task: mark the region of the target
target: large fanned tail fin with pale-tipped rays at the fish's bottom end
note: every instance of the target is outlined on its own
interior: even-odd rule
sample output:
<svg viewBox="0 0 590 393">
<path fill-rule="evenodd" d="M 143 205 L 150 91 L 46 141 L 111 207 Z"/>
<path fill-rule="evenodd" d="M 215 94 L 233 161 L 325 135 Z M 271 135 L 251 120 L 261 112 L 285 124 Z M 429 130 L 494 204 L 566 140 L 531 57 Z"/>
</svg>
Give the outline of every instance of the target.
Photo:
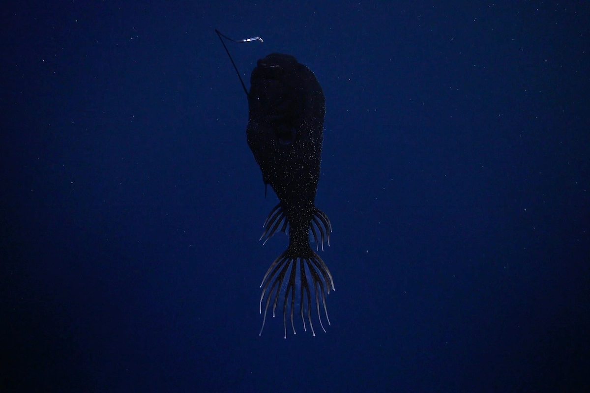
<svg viewBox="0 0 590 393">
<path fill-rule="evenodd" d="M 326 332 L 320 313 L 320 303 L 324 309 L 326 321 L 330 325 L 326 307 L 326 295 L 330 293 L 330 289 L 334 289 L 334 282 L 330 270 L 328 270 L 322 258 L 311 249 L 309 251 L 306 256 L 293 256 L 292 250 L 288 248 L 268 268 L 260 285 L 263 289 L 260 304 L 258 305 L 261 314 L 263 313 L 262 305 L 265 298 L 266 302 L 264 302 L 264 318 L 259 335 L 262 335 L 264 329 L 268 306 L 272 303 L 274 318 L 279 300 L 283 301 L 284 338 L 287 338 L 287 310 L 289 310 L 293 334 L 296 334 L 293 322 L 296 308 L 299 308 L 304 331 L 307 331 L 305 322 L 307 317 L 312 334 L 316 335 L 312 323 L 312 308 L 315 308 L 320 326 Z M 297 291 L 298 288 L 299 291 Z M 315 299 L 315 307 L 312 305 L 313 298 Z M 306 315 L 304 316 L 304 314 Z"/>
</svg>

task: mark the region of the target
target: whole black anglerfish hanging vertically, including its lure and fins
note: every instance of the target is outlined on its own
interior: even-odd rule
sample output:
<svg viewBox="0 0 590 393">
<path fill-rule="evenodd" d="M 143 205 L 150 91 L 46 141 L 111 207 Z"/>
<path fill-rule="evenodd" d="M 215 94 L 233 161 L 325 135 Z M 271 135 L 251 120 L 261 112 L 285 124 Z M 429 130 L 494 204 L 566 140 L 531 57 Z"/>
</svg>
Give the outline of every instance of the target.
<svg viewBox="0 0 590 393">
<path fill-rule="evenodd" d="M 227 38 L 216 32 L 219 39 Z M 262 41 L 257 37 L 237 42 L 254 40 Z M 224 43 L 222 39 L 221 42 Z M 307 317 L 315 335 L 312 309 L 325 332 L 320 304 L 330 323 L 326 295 L 334 289 L 334 282 L 310 245 L 310 232 L 316 249 L 321 246 L 322 250 L 324 243 L 329 245 L 332 232 L 330 220 L 314 204 L 326 113 L 322 87 L 309 68 L 291 55 L 278 53 L 258 60 L 251 74 L 250 92 L 241 82 L 248 97 L 248 146 L 260 166 L 265 187 L 270 184 L 279 200 L 264 222 L 260 239 L 266 243 L 277 231 L 289 234 L 287 250 L 274 260 L 261 284 L 259 311 L 263 313 L 264 306 L 264 317 L 260 334 L 268 308 L 272 307 L 274 316 L 279 302 L 283 303 L 285 338 L 287 312 L 293 333 L 296 333 L 293 315 L 297 311 L 304 330 L 307 330 Z"/>
</svg>

